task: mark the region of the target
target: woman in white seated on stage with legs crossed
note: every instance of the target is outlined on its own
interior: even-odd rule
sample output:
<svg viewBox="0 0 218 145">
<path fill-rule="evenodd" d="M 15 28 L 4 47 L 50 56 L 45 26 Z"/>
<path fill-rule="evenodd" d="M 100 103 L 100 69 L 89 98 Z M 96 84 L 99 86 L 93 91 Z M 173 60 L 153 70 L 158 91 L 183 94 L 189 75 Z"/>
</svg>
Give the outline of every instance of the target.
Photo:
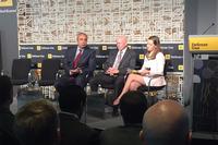
<svg viewBox="0 0 218 145">
<path fill-rule="evenodd" d="M 113 101 L 113 105 L 119 105 L 120 99 L 129 90 L 136 90 L 142 85 L 148 85 L 152 76 L 160 75 L 150 81 L 150 86 L 164 86 L 166 81 L 164 75 L 165 56 L 160 49 L 160 41 L 157 36 L 150 36 L 147 40 L 147 53 L 145 55 L 144 63 L 137 74 L 131 73 L 128 76 L 122 93 Z"/>
</svg>

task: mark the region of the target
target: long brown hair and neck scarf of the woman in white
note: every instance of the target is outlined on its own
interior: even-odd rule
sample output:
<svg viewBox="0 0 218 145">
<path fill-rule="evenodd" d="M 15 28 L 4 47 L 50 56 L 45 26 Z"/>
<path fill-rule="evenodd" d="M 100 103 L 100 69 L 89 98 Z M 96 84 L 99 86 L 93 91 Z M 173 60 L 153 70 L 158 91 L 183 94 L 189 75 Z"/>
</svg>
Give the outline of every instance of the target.
<svg viewBox="0 0 218 145">
<path fill-rule="evenodd" d="M 159 37 L 157 37 L 157 36 L 150 36 L 150 37 L 148 37 L 148 39 L 153 40 L 153 44 L 156 46 L 156 48 L 150 52 L 147 51 L 147 53 L 145 56 L 148 60 L 153 60 L 156 58 L 156 55 L 161 51 L 160 40 L 159 40 Z"/>
</svg>

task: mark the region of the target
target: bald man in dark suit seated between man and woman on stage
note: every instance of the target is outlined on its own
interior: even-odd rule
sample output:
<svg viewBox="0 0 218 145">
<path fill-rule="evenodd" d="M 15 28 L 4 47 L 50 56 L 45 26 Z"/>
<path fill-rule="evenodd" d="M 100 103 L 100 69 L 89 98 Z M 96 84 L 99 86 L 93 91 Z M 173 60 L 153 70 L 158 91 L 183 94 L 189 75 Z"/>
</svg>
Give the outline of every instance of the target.
<svg viewBox="0 0 218 145">
<path fill-rule="evenodd" d="M 120 95 L 124 86 L 124 76 L 126 75 L 128 69 L 134 69 L 136 61 L 135 52 L 128 48 L 128 39 L 125 36 L 117 38 L 117 48 L 118 50 L 109 53 L 104 65 L 105 72 L 89 81 L 93 92 L 98 89 L 98 84 L 101 86 L 111 84 L 114 87 L 113 99 Z M 118 108 L 113 107 L 113 114 L 117 114 L 117 112 Z"/>
</svg>

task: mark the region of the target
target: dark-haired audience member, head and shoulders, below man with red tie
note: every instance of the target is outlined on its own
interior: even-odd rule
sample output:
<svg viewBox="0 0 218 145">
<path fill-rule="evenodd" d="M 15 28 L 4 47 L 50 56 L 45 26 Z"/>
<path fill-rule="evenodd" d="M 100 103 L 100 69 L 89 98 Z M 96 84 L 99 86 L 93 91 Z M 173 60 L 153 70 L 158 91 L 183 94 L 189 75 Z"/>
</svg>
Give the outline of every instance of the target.
<svg viewBox="0 0 218 145">
<path fill-rule="evenodd" d="M 77 85 L 65 84 L 59 89 L 61 145 L 96 145 L 98 132 L 80 122 L 86 93 Z"/>
</svg>

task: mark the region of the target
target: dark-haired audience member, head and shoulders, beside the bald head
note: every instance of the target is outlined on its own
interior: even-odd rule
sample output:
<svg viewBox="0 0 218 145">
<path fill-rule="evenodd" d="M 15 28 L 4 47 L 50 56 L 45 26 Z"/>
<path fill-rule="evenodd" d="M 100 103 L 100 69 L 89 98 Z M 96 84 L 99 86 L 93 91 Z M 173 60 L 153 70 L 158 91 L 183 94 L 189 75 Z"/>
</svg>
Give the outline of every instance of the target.
<svg viewBox="0 0 218 145">
<path fill-rule="evenodd" d="M 101 132 L 100 145 L 142 145 L 138 133 L 147 109 L 147 100 L 143 93 L 131 90 L 120 101 L 123 126 L 107 129 Z"/>
</svg>

